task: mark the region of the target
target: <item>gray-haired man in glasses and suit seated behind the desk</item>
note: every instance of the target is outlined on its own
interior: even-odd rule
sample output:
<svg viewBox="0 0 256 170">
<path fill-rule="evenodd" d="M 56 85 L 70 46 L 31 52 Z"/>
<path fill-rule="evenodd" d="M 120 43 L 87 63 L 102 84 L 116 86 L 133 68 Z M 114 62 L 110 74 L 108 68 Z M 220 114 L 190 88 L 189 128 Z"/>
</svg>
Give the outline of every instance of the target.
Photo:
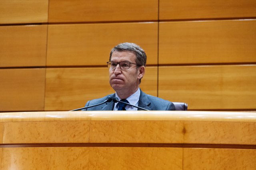
<svg viewBox="0 0 256 170">
<path fill-rule="evenodd" d="M 116 91 L 110 94 L 112 98 L 128 102 L 132 105 L 148 110 L 175 110 L 174 104 L 167 100 L 157 98 L 142 92 L 139 88 L 145 74 L 147 56 L 144 50 L 134 43 L 121 43 L 110 52 L 108 64 L 109 83 Z M 88 101 L 86 106 L 102 103 L 106 97 Z M 140 110 L 121 102 L 108 102 L 106 104 L 90 107 L 84 110 Z"/>
</svg>

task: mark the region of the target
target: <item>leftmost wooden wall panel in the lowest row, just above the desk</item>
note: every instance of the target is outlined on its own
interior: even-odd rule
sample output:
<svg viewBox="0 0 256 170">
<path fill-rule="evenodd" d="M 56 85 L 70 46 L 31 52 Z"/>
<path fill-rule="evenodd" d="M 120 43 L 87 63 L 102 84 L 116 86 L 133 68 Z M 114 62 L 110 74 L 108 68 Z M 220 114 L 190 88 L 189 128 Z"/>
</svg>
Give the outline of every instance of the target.
<svg viewBox="0 0 256 170">
<path fill-rule="evenodd" d="M 42 111 L 45 69 L 1 69 L 0 111 Z"/>
</svg>

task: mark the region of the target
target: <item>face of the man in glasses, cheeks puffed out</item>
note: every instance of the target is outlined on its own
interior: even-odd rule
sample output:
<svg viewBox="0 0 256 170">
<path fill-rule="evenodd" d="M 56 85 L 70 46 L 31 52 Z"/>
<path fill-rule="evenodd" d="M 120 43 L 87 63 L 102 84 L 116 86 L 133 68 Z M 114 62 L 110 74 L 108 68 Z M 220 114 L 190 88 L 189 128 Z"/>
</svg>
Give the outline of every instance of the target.
<svg viewBox="0 0 256 170">
<path fill-rule="evenodd" d="M 136 55 L 130 51 L 114 51 L 111 57 L 112 62 L 118 63 L 122 61 L 136 63 L 135 59 Z M 119 64 L 117 64 L 115 69 L 109 69 L 109 83 L 115 91 L 124 90 L 134 93 L 134 90 L 139 86 L 139 80 L 142 76 L 136 64 L 130 64 L 130 68 L 127 70 L 121 70 Z"/>
</svg>

